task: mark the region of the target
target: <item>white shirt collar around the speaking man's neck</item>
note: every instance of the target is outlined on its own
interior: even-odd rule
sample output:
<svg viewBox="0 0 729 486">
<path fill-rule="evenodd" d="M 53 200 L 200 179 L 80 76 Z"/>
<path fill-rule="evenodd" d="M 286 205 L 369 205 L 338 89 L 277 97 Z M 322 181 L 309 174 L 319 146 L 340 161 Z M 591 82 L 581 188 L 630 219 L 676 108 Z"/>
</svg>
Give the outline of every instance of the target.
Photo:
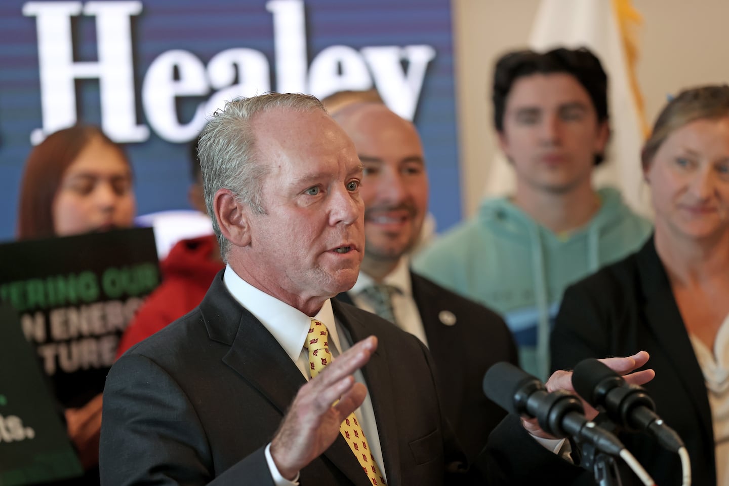
<svg viewBox="0 0 729 486">
<path fill-rule="evenodd" d="M 238 304 L 248 309 L 257 320 L 260 320 L 278 344 L 281 344 L 289 358 L 296 362 L 304 347 L 309 328 L 311 328 L 311 317 L 284 301 L 279 301 L 278 298 L 255 288 L 241 279 L 235 270 L 230 268 L 230 265 L 225 267 L 223 282 Z M 324 305 L 313 317 L 327 326 L 332 341 L 337 349 L 341 350 L 330 299 L 327 298 L 324 301 Z"/>
</svg>

